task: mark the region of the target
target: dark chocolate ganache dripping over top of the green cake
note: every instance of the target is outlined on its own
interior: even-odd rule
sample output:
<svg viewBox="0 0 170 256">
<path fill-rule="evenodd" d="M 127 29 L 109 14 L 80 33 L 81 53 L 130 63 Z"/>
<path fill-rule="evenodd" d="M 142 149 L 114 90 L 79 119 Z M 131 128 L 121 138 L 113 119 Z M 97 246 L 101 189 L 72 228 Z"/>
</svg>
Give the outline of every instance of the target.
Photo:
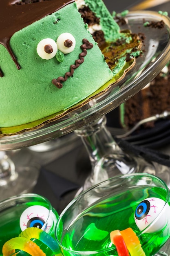
<svg viewBox="0 0 170 256">
<path fill-rule="evenodd" d="M 14 56 L 9 45 L 11 36 L 20 29 L 31 25 L 33 22 L 44 18 L 72 2 L 74 2 L 74 0 L 32 1 L 29 4 L 26 4 L 26 2 L 25 4 L 20 4 L 20 0 L 1 1 L 0 11 L 3 15 L 0 16 L 0 44 L 6 47 L 18 69 L 20 69 L 20 64 L 16 59 L 17 56 Z M 0 76 L 3 76 L 1 69 Z"/>
</svg>

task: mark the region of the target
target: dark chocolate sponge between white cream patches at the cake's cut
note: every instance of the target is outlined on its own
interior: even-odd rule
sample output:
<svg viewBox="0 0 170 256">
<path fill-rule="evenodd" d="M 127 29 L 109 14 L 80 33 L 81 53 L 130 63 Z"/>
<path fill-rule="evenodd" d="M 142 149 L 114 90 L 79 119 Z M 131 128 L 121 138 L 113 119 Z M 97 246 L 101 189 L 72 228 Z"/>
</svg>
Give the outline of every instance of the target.
<svg viewBox="0 0 170 256">
<path fill-rule="evenodd" d="M 95 13 L 93 13 L 88 6 L 79 9 L 79 13 L 82 16 L 84 23 L 87 23 L 89 26 L 99 24 L 100 19 L 95 16 Z"/>
</svg>

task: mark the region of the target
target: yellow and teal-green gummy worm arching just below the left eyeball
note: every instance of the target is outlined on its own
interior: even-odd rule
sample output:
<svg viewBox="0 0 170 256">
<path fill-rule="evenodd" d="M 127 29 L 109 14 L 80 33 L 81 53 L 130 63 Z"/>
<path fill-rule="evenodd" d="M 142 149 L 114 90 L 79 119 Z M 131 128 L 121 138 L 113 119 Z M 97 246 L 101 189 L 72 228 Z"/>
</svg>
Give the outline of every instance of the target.
<svg viewBox="0 0 170 256">
<path fill-rule="evenodd" d="M 19 237 L 28 238 L 29 240 L 31 238 L 38 239 L 42 243 L 47 245 L 54 254 L 59 253 L 59 246 L 55 239 L 42 229 L 39 229 L 37 227 L 28 227 L 27 229 L 21 232 Z"/>
</svg>

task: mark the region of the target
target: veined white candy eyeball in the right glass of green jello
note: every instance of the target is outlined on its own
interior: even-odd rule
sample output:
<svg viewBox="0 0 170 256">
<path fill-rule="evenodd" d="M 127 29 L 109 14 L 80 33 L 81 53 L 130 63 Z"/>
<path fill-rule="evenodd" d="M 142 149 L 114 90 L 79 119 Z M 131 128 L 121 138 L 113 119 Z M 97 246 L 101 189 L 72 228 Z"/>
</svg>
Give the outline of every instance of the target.
<svg viewBox="0 0 170 256">
<path fill-rule="evenodd" d="M 152 233 L 163 229 L 168 224 L 170 206 L 160 198 L 146 198 L 135 209 L 135 222 L 140 231 Z"/>
</svg>

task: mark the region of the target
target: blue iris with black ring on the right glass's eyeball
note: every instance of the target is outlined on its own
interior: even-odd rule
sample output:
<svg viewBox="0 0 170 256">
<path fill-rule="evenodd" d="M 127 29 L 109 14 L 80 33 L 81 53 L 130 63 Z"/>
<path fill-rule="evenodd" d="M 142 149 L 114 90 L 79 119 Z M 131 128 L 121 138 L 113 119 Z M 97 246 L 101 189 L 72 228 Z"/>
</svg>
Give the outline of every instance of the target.
<svg viewBox="0 0 170 256">
<path fill-rule="evenodd" d="M 145 218 L 150 210 L 150 202 L 148 200 L 144 200 L 138 204 L 135 210 L 135 218 L 137 220 L 142 220 Z"/>
</svg>

